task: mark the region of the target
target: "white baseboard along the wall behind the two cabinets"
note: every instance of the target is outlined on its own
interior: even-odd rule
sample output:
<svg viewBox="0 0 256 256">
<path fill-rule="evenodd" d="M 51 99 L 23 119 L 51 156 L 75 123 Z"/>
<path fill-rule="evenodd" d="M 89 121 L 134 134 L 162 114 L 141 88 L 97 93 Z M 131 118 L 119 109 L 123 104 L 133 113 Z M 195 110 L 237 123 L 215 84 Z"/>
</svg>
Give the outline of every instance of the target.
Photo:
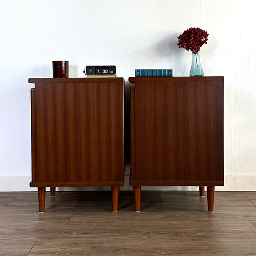
<svg viewBox="0 0 256 256">
<path fill-rule="evenodd" d="M 5 177 L 0 176 L 0 192 L 21 192 L 37 191 L 37 188 L 30 188 L 30 176 Z M 49 188 L 46 188 L 48 191 Z M 58 187 L 57 191 L 98 191 L 110 190 L 110 187 Z M 125 176 L 125 186 L 120 190 L 132 190 L 129 186 L 129 176 Z M 163 191 L 188 191 L 198 190 L 195 186 L 142 186 L 142 190 L 163 190 Z M 215 191 L 256 191 L 256 176 L 225 176 L 224 187 L 215 187 Z"/>
</svg>

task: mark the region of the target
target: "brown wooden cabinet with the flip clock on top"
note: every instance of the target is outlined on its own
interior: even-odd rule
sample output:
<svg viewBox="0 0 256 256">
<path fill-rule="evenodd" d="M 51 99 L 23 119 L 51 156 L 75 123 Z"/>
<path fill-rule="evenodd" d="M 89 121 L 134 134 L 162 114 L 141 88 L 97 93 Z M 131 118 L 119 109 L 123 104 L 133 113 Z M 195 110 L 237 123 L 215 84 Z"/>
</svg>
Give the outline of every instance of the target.
<svg viewBox="0 0 256 256">
<path fill-rule="evenodd" d="M 124 185 L 124 79 L 29 78 L 32 181 L 39 212 L 46 187 L 111 186 L 118 210 Z"/>
</svg>

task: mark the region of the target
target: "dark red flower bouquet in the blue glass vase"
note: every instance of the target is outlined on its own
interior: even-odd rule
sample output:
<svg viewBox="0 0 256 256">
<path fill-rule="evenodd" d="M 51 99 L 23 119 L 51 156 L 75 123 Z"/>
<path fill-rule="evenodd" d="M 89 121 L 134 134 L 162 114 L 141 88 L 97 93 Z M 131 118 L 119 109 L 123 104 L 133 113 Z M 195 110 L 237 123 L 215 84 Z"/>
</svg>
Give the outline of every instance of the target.
<svg viewBox="0 0 256 256">
<path fill-rule="evenodd" d="M 191 50 L 193 54 L 197 54 L 203 44 L 207 44 L 207 36 L 209 34 L 199 27 L 191 27 L 178 36 L 179 48 Z"/>
</svg>

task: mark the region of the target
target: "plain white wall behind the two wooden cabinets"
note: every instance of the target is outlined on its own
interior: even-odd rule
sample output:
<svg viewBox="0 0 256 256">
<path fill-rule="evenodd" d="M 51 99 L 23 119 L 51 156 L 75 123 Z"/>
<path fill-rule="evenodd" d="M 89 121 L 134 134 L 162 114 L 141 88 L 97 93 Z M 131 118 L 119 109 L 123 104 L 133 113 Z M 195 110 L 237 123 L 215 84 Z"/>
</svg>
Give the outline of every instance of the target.
<svg viewBox="0 0 256 256">
<path fill-rule="evenodd" d="M 191 52 L 176 44 L 189 27 L 209 33 L 205 76 L 224 76 L 219 189 L 255 190 L 255 8 L 255 0 L 1 0 L 0 191 L 32 190 L 29 77 L 52 77 L 53 60 L 68 60 L 70 77 L 83 77 L 88 64 L 115 64 L 126 81 L 136 68 L 188 76 Z"/>
</svg>

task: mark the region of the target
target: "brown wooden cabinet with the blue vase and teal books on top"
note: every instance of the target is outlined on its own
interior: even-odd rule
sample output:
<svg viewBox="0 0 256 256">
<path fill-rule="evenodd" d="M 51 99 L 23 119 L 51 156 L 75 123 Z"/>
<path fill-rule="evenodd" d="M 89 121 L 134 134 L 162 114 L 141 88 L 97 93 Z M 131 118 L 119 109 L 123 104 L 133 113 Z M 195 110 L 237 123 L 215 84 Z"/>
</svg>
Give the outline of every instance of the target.
<svg viewBox="0 0 256 256">
<path fill-rule="evenodd" d="M 130 77 L 130 185 L 140 211 L 141 186 L 224 185 L 223 77 Z"/>
</svg>

